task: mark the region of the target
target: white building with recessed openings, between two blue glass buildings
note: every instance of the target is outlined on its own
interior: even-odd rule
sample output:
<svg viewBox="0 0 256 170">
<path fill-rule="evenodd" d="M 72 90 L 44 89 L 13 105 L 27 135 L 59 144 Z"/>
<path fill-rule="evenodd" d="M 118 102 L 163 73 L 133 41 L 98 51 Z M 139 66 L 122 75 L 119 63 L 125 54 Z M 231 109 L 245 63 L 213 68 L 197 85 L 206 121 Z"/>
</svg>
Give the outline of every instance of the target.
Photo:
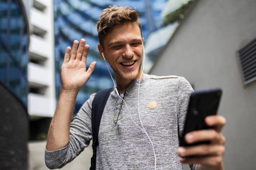
<svg viewBox="0 0 256 170">
<path fill-rule="evenodd" d="M 51 0 L 30 1 L 28 63 L 28 113 L 30 140 L 46 139 L 54 115 L 54 12 Z"/>
</svg>

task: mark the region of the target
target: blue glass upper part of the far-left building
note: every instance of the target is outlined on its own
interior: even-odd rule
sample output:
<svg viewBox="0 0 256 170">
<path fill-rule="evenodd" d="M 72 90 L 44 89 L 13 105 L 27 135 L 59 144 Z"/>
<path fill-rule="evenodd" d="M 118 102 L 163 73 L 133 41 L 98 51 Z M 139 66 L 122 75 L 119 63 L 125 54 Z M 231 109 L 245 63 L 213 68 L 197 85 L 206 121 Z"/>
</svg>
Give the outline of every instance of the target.
<svg viewBox="0 0 256 170">
<path fill-rule="evenodd" d="M 0 82 L 27 105 L 28 22 L 19 0 L 0 0 Z"/>
</svg>

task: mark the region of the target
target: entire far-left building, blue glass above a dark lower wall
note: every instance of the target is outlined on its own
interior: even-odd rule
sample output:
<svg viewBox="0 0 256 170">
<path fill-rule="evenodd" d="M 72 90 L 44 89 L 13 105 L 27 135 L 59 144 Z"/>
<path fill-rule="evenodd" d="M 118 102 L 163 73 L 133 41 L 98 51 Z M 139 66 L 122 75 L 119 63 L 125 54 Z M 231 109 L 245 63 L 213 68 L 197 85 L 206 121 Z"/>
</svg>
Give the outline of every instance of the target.
<svg viewBox="0 0 256 170">
<path fill-rule="evenodd" d="M 28 3 L 0 0 L 0 168 L 28 168 Z"/>
</svg>

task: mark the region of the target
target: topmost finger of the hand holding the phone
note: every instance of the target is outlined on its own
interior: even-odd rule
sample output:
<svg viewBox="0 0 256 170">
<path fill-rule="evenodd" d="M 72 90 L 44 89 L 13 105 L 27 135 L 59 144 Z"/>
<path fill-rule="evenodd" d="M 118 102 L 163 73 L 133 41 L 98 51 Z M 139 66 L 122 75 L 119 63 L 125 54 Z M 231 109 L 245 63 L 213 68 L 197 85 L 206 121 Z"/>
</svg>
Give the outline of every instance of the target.
<svg viewBox="0 0 256 170">
<path fill-rule="evenodd" d="M 226 124 L 226 119 L 220 115 L 211 115 L 205 118 L 205 123 L 208 126 L 214 126 L 215 130 L 221 132 L 223 126 Z"/>
</svg>

